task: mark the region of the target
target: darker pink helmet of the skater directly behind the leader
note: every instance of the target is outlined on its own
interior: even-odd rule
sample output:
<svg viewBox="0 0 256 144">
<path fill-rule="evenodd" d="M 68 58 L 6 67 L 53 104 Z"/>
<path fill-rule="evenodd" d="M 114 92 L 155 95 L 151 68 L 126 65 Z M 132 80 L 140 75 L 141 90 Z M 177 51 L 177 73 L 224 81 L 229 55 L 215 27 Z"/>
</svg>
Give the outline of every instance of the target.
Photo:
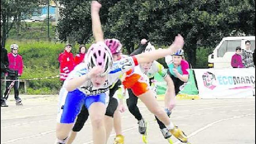
<svg viewBox="0 0 256 144">
<path fill-rule="evenodd" d="M 106 39 L 105 44 L 109 47 L 112 54 L 117 54 L 121 52 L 122 44 L 117 39 Z"/>
</svg>

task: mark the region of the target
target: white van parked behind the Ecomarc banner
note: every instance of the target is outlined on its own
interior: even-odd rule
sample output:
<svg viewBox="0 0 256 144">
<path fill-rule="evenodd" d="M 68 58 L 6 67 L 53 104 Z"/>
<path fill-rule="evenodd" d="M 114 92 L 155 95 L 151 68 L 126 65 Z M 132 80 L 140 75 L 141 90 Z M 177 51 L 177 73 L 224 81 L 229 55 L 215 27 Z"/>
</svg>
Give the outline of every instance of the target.
<svg viewBox="0 0 256 144">
<path fill-rule="evenodd" d="M 246 40 L 251 42 L 251 50 L 255 49 L 255 36 L 225 37 L 220 44 L 214 49 L 213 53 L 208 56 L 209 68 L 230 68 L 231 58 L 235 54 L 236 47 L 240 46 L 245 49 Z"/>
</svg>

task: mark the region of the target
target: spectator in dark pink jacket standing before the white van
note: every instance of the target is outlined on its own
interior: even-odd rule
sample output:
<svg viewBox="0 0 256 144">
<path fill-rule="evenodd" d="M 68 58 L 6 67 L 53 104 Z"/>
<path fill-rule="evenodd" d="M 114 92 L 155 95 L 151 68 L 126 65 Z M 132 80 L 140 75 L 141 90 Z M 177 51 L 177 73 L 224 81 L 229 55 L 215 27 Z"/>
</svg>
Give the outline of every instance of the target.
<svg viewBox="0 0 256 144">
<path fill-rule="evenodd" d="M 232 56 L 231 65 L 233 68 L 244 68 L 241 57 L 241 47 L 236 48 L 236 54 Z"/>
</svg>

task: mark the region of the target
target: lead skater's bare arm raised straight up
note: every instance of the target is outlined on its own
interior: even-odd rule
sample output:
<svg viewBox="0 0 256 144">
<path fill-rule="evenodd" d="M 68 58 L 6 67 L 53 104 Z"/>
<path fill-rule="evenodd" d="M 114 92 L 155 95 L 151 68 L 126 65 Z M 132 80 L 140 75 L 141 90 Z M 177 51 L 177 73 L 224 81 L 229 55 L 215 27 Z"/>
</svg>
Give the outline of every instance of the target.
<svg viewBox="0 0 256 144">
<path fill-rule="evenodd" d="M 102 27 L 99 19 L 99 9 L 101 4 L 97 1 L 92 1 L 91 5 L 91 17 L 92 17 L 92 31 L 96 42 L 104 41 Z"/>
</svg>

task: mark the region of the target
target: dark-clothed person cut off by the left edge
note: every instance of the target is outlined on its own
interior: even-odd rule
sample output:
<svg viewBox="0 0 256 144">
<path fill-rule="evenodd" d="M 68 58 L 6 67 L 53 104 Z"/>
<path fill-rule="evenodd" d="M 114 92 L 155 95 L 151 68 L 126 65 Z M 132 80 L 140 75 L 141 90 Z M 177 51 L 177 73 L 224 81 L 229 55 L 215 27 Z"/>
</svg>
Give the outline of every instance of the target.
<svg viewBox="0 0 256 144">
<path fill-rule="evenodd" d="M 1 42 L 2 43 L 2 42 Z M 7 50 L 1 45 L 1 79 L 5 79 L 6 68 L 9 66 Z M 5 81 L 1 80 L 1 106 L 8 106 L 3 98 Z"/>
</svg>

